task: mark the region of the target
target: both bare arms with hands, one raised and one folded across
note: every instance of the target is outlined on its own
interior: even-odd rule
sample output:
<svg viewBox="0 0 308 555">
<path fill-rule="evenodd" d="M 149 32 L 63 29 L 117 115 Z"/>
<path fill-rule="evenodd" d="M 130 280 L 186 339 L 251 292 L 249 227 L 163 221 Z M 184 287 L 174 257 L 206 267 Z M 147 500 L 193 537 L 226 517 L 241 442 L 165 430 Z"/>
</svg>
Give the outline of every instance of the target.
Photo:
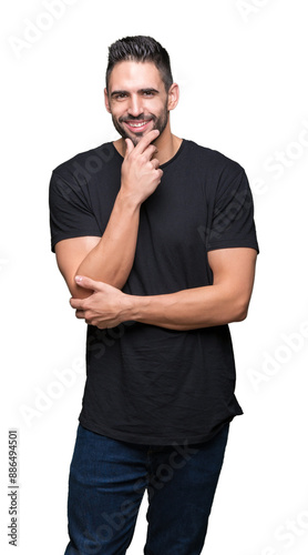
<svg viewBox="0 0 308 555">
<path fill-rule="evenodd" d="M 136 148 L 127 142 L 122 184 L 103 236 L 60 241 L 59 269 L 72 294 L 75 315 L 100 329 L 134 320 L 172 330 L 193 330 L 246 317 L 257 252 L 249 248 L 211 251 L 213 285 L 176 293 L 136 296 L 121 291 L 131 272 L 140 206 L 157 188 L 162 171 L 153 159 L 155 131 Z M 142 192 L 142 193 L 141 193 Z"/>
</svg>

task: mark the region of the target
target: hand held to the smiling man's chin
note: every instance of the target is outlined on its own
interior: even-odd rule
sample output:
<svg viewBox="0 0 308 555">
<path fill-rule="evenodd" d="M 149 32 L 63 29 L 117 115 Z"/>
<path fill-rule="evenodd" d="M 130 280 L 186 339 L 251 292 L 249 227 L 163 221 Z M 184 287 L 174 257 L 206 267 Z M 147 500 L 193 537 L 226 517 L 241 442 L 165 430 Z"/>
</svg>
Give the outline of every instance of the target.
<svg viewBox="0 0 308 555">
<path fill-rule="evenodd" d="M 160 131 L 153 129 L 134 147 L 131 139 L 125 139 L 126 152 L 122 164 L 121 192 L 132 199 L 136 204 L 142 204 L 158 186 L 163 175 L 160 162 L 153 155 L 155 141 Z"/>
</svg>

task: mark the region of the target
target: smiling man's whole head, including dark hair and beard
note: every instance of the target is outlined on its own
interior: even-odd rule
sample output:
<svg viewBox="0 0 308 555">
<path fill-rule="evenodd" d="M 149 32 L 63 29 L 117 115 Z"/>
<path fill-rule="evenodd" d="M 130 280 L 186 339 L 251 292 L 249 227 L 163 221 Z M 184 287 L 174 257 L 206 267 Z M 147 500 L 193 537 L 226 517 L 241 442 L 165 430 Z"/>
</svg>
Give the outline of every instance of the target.
<svg viewBox="0 0 308 555">
<path fill-rule="evenodd" d="M 110 49 L 105 105 L 116 131 L 137 144 L 152 129 L 161 135 L 178 100 L 170 57 L 151 37 L 127 37 Z"/>
</svg>

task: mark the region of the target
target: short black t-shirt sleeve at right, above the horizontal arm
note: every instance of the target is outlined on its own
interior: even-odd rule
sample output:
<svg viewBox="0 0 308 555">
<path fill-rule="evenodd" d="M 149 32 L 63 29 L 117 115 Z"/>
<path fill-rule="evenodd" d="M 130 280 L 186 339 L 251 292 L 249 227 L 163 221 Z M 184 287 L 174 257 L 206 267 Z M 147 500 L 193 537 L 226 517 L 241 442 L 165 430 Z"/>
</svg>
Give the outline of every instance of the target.
<svg viewBox="0 0 308 555">
<path fill-rule="evenodd" d="M 254 201 L 245 170 L 220 175 L 208 230 L 207 250 L 248 246 L 259 252 Z"/>
</svg>

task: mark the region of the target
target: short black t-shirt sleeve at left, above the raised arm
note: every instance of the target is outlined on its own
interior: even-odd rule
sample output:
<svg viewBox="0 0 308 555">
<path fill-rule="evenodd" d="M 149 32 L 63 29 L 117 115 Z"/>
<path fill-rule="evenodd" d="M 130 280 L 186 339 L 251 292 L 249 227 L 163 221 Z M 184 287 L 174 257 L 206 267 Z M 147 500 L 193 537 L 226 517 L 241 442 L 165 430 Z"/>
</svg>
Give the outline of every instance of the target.
<svg viewBox="0 0 308 555">
<path fill-rule="evenodd" d="M 52 172 L 49 186 L 51 250 L 63 239 L 86 235 L 102 236 L 102 232 L 85 194 L 85 186 L 73 176 Z"/>
</svg>

